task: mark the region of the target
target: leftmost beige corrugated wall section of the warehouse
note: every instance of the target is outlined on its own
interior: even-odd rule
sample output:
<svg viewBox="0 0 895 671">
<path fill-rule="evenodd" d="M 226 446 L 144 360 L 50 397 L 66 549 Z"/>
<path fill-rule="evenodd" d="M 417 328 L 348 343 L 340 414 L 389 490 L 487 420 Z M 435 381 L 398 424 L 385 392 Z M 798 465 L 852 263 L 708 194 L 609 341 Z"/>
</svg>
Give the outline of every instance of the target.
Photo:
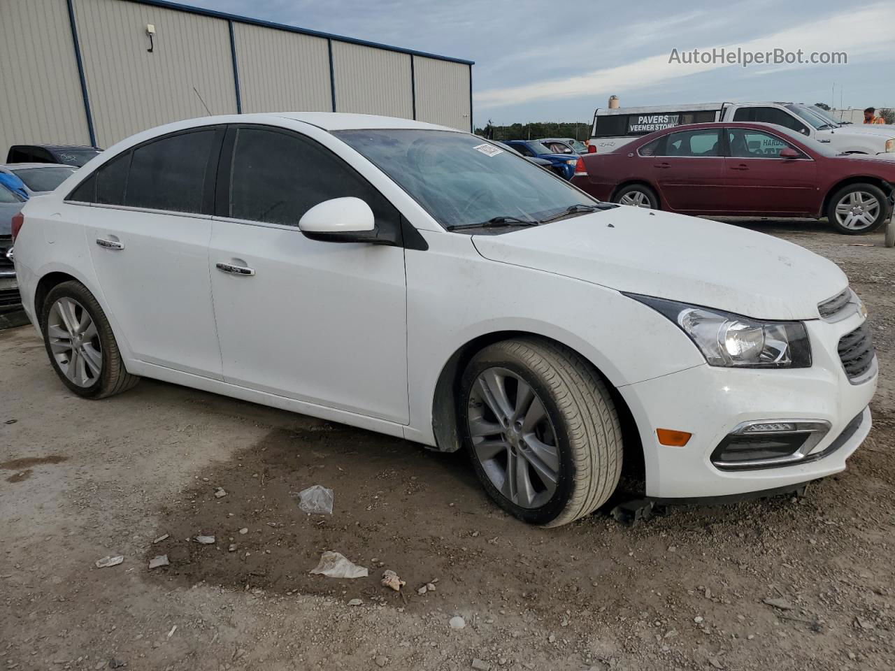
<svg viewBox="0 0 895 671">
<path fill-rule="evenodd" d="M 0 0 L 0 163 L 11 144 L 89 144 L 64 0 Z"/>
</svg>

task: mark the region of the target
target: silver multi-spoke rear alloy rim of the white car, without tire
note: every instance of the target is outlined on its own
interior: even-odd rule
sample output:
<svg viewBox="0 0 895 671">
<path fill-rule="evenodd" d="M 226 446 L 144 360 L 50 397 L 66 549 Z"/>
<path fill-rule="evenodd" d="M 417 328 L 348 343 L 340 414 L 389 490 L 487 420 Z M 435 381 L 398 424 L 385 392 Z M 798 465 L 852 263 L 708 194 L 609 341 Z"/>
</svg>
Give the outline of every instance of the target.
<svg viewBox="0 0 895 671">
<path fill-rule="evenodd" d="M 102 344 L 90 312 L 73 298 L 53 303 L 47 317 L 47 336 L 53 358 L 64 376 L 88 387 L 103 369 Z"/>
</svg>

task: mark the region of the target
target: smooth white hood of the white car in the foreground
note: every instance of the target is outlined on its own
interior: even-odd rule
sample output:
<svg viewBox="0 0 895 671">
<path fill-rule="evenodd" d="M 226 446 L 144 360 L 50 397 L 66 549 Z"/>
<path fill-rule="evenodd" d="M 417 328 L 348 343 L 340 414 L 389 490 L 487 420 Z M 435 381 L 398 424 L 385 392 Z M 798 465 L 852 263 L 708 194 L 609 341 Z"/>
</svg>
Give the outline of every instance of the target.
<svg viewBox="0 0 895 671">
<path fill-rule="evenodd" d="M 818 319 L 847 285 L 831 261 L 734 225 L 620 206 L 501 235 L 485 259 L 755 319 Z"/>
</svg>

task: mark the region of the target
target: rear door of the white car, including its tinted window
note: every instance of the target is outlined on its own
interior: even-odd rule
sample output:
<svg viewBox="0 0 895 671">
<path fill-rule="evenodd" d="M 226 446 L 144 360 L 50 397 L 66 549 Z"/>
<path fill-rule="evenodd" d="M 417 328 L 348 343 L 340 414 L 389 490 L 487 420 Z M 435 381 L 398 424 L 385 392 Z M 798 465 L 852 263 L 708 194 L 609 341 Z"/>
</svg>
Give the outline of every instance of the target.
<svg viewBox="0 0 895 671">
<path fill-rule="evenodd" d="M 223 129 L 152 140 L 72 194 L 112 318 L 135 358 L 220 378 L 208 253 Z"/>
</svg>

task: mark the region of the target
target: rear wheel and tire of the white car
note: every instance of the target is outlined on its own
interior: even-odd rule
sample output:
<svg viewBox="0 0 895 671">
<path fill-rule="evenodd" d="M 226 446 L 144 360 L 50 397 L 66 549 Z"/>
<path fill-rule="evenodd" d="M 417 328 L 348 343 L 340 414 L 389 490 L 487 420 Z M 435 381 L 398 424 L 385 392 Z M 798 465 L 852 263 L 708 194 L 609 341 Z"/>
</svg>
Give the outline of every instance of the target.
<svg viewBox="0 0 895 671">
<path fill-rule="evenodd" d="M 105 398 L 140 381 L 124 369 L 106 313 L 80 282 L 64 282 L 47 293 L 40 330 L 56 375 L 75 394 Z"/>
</svg>

